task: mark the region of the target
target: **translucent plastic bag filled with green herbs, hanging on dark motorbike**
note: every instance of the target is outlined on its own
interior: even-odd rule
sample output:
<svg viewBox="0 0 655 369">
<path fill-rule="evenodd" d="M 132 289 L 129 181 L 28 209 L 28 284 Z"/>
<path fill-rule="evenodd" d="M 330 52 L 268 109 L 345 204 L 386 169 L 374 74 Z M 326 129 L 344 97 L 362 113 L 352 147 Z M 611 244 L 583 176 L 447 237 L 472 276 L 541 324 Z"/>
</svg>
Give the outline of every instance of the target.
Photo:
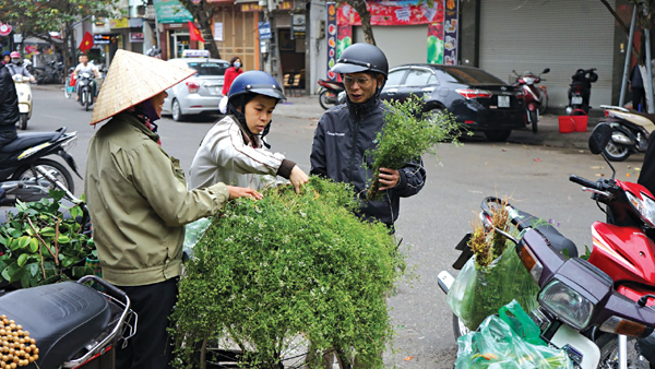
<svg viewBox="0 0 655 369">
<path fill-rule="evenodd" d="M 446 301 L 453 313 L 473 331 L 513 299 L 527 311 L 534 310 L 538 293 L 539 286 L 511 246 L 488 266 L 477 266 L 475 257 L 469 259 L 451 286 Z"/>
</svg>

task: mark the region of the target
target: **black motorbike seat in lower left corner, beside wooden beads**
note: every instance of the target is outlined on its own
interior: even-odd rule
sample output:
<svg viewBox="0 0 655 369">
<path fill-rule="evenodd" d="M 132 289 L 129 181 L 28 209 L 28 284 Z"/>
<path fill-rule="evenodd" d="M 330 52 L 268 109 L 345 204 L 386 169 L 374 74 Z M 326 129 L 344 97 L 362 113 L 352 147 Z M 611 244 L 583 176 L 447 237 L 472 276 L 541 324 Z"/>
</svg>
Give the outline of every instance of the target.
<svg viewBox="0 0 655 369">
<path fill-rule="evenodd" d="M 36 364 L 41 369 L 56 369 L 74 358 L 105 331 L 111 318 L 102 294 L 74 282 L 8 293 L 0 297 L 0 313 L 36 340 Z"/>
</svg>

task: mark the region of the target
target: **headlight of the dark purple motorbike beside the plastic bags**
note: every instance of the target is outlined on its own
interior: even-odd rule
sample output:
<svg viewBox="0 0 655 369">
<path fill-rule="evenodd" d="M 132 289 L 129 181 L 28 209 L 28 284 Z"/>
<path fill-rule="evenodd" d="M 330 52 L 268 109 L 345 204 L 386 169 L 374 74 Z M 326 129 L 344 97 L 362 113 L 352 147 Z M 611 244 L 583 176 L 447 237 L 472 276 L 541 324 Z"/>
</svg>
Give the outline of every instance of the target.
<svg viewBox="0 0 655 369">
<path fill-rule="evenodd" d="M 584 330 L 592 320 L 594 303 L 557 278 L 541 289 L 538 300 L 543 308 L 577 331 Z"/>
</svg>

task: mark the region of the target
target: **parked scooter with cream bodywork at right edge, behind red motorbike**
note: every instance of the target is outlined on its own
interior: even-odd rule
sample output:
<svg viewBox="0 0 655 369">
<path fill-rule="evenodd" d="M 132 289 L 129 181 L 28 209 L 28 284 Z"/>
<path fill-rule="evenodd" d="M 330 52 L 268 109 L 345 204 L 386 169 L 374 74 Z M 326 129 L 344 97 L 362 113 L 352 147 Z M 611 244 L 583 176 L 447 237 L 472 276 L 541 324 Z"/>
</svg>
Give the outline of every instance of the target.
<svg viewBox="0 0 655 369">
<path fill-rule="evenodd" d="M 633 153 L 646 151 L 648 138 L 655 130 L 653 115 L 620 106 L 600 105 L 600 108 L 605 109 L 605 118 L 600 122 L 608 123 L 614 130 L 611 140 L 603 150 L 609 160 L 623 162 Z"/>
</svg>

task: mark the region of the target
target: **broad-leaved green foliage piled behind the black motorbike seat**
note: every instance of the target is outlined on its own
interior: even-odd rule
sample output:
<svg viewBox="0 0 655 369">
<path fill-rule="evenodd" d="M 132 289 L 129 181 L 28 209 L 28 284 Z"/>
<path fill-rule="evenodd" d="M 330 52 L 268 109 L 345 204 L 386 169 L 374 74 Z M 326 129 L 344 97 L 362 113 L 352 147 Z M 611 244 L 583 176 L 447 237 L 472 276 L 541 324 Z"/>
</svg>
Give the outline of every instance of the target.
<svg viewBox="0 0 655 369">
<path fill-rule="evenodd" d="M 53 201 L 19 201 L 17 213 L 7 213 L 7 223 L 0 225 L 0 282 L 26 288 L 93 274 L 79 265 L 86 257 L 96 257 L 88 236 L 75 222 L 82 209 L 62 209 L 63 195 L 63 191 L 50 191 Z"/>
</svg>

